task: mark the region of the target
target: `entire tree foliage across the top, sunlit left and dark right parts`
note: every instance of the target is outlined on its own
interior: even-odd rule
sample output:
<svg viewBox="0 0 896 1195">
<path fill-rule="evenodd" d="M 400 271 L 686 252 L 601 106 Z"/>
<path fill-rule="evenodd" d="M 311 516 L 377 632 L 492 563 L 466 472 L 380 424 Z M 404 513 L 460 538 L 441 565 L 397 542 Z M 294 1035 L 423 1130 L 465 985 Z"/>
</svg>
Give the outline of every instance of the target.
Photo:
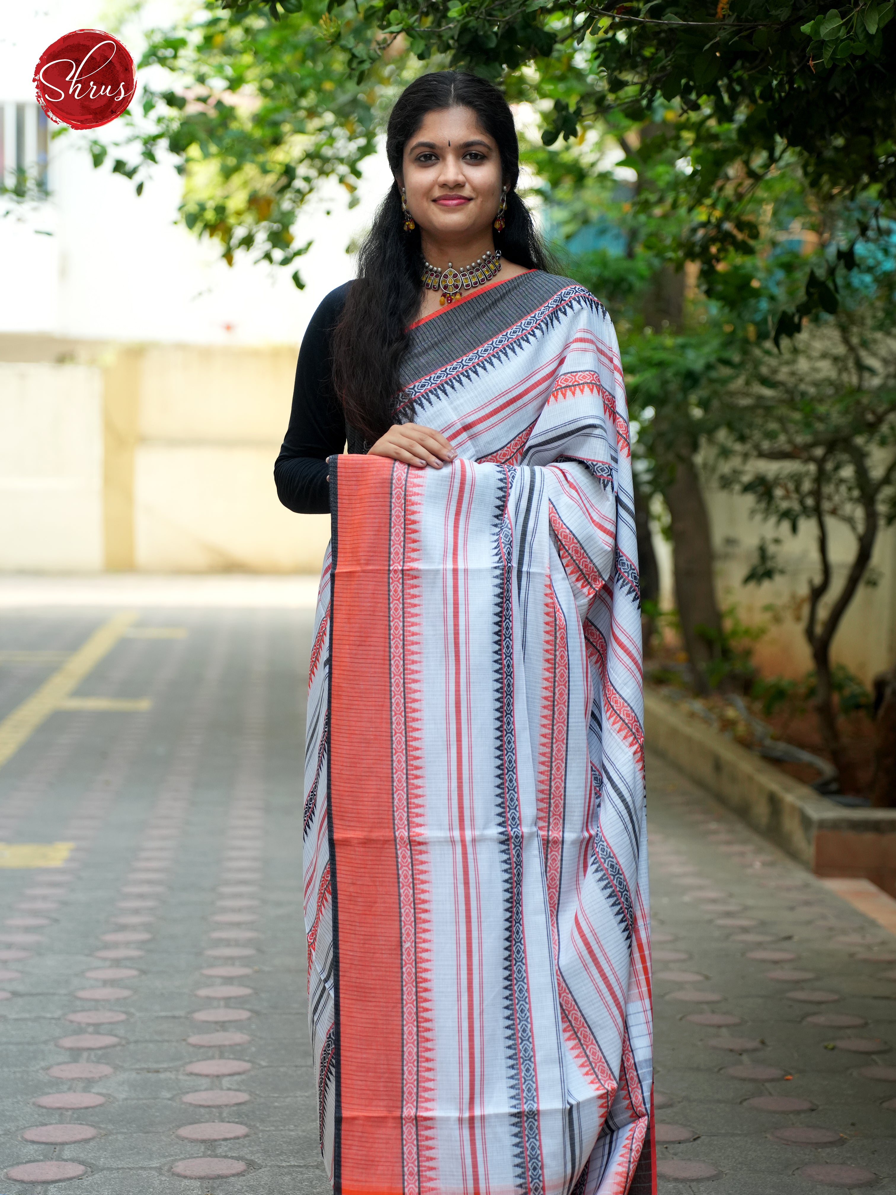
<svg viewBox="0 0 896 1195">
<path fill-rule="evenodd" d="M 142 155 L 153 161 L 165 142 L 180 158 L 185 219 L 228 259 L 245 249 L 291 264 L 302 202 L 324 177 L 356 185 L 378 106 L 430 63 L 462 66 L 533 102 L 545 146 L 600 128 L 628 153 L 626 133 L 646 125 L 624 165 L 687 164 L 665 188 L 683 219 L 662 255 L 676 269 L 700 263 L 701 288 L 723 300 L 736 296 L 719 264 L 749 256 L 760 234 L 757 188 L 797 161 L 816 195 L 861 202 L 774 313 L 780 342 L 836 311 L 857 241 L 892 212 L 892 0 L 827 11 L 811 0 L 204 0 L 143 55 L 180 85 L 145 93 Z M 140 165 L 115 168 L 133 177 Z M 637 202 L 652 202 L 650 188 Z"/>
</svg>

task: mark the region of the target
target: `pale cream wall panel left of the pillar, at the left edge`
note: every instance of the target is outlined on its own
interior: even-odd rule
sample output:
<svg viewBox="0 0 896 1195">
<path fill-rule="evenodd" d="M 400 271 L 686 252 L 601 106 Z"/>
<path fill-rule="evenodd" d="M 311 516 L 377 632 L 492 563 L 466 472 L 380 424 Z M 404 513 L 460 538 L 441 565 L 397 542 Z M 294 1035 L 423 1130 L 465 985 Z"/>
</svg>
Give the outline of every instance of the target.
<svg viewBox="0 0 896 1195">
<path fill-rule="evenodd" d="M 0 362 L 0 569 L 102 568 L 102 370 Z"/>
</svg>

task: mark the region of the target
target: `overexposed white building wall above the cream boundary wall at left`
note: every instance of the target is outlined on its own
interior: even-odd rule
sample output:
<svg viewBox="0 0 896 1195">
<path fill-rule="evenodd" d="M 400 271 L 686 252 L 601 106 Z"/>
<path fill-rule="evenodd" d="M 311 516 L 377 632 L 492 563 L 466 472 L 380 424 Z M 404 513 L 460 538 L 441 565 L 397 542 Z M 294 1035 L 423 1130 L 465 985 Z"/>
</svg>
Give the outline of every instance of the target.
<svg viewBox="0 0 896 1195">
<path fill-rule="evenodd" d="M 196 7 L 148 0 L 137 25 L 127 25 L 122 39 L 139 59 L 139 27 L 164 25 L 178 11 Z M 115 6 L 43 0 L 39 7 L 6 8 L 0 25 L 0 103 L 8 116 L 17 102 L 33 106 L 31 74 L 47 45 L 72 29 L 104 27 Z M 152 78 L 151 72 L 141 75 L 142 81 Z M 159 73 L 157 81 L 162 78 L 170 86 L 166 73 Z M 105 165 L 94 170 L 90 141 L 96 137 L 111 147 L 125 134 L 124 123 L 113 121 L 93 131 L 67 130 L 53 137 L 51 198 L 27 209 L 13 209 L 6 201 L 13 214 L 0 219 L 0 259 L 5 277 L 14 284 L 0 288 L 0 332 L 297 344 L 324 295 L 354 276 L 346 246 L 369 223 L 389 185 L 385 157 L 368 161 L 356 208 L 349 209 L 348 192 L 333 185 L 303 210 L 294 233 L 299 243 L 314 244 L 295 263 L 306 281 L 305 290 L 297 290 L 289 277 L 293 268 L 256 265 L 246 257 L 228 268 L 220 245 L 198 241 L 178 222 L 180 178 L 172 161 L 154 168 L 140 197 L 134 183 L 111 173 L 113 148 Z"/>
</svg>

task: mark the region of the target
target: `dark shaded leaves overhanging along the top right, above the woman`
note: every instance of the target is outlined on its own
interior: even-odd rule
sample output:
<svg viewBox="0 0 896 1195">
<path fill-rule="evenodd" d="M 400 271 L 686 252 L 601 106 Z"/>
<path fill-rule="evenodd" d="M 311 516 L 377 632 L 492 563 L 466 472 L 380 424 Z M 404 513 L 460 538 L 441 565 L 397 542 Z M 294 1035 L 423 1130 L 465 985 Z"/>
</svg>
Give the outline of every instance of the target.
<svg viewBox="0 0 896 1195">
<path fill-rule="evenodd" d="M 300 0 L 221 0 L 234 13 L 305 11 Z M 572 139 L 596 121 L 648 121 L 675 104 L 686 120 L 674 135 L 689 160 L 679 201 L 691 220 L 670 259 L 711 268 L 756 239 L 747 208 L 756 185 L 796 154 L 818 194 L 873 200 L 873 215 L 896 201 L 896 35 L 892 0 L 843 8 L 814 0 L 631 0 L 602 7 L 582 0 L 330 0 L 324 36 L 361 84 L 406 44 L 502 78 L 511 96 L 552 99 L 545 145 Z M 669 130 L 667 130 L 667 137 Z M 837 306 L 837 274 L 869 227 L 859 219 L 820 275 L 804 280 L 777 337 Z M 837 252 L 839 251 L 839 252 Z"/>
</svg>

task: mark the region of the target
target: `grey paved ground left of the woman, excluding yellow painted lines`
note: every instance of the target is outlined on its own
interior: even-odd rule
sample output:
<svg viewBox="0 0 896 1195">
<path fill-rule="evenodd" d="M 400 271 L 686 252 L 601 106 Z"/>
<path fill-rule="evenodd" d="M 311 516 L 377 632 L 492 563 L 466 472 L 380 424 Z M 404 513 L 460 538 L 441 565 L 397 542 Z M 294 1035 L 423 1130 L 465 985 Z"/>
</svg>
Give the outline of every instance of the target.
<svg viewBox="0 0 896 1195">
<path fill-rule="evenodd" d="M 110 617 L 0 617 L 0 717 Z M 152 707 L 54 712 L 0 768 L 0 840 L 75 844 L 0 869 L 2 1195 L 329 1191 L 301 923 L 311 618 L 145 611 L 131 636 L 186 635 L 122 637 L 76 692 Z"/>
</svg>

